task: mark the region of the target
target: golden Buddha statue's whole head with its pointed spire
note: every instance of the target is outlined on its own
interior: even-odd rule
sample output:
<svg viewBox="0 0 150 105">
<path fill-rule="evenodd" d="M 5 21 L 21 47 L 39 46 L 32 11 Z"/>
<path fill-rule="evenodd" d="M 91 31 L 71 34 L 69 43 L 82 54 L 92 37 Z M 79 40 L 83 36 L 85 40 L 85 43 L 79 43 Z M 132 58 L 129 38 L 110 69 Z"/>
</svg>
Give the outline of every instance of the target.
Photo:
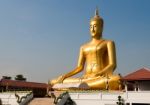
<svg viewBox="0 0 150 105">
<path fill-rule="evenodd" d="M 95 16 L 90 21 L 90 33 L 92 37 L 102 37 L 103 19 L 98 15 L 98 10 L 95 11 Z"/>
</svg>

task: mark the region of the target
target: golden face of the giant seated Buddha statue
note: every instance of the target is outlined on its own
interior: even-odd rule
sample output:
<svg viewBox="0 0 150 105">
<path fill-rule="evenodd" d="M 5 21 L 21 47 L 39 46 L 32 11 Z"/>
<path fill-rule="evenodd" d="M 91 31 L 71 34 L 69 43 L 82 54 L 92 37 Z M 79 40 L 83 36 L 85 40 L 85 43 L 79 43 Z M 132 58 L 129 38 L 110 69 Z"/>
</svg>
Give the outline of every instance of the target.
<svg viewBox="0 0 150 105">
<path fill-rule="evenodd" d="M 90 22 L 90 33 L 92 37 L 101 37 L 102 27 L 100 22 L 95 20 Z"/>
</svg>

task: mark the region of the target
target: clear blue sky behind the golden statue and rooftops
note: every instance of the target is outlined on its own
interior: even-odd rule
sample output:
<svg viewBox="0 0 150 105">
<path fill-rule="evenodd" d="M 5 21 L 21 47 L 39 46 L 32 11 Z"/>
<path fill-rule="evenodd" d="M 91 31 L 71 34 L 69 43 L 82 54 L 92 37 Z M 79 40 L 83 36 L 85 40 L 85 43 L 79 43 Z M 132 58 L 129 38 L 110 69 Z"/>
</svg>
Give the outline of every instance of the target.
<svg viewBox="0 0 150 105">
<path fill-rule="evenodd" d="M 149 0 L 1 0 L 0 76 L 47 82 L 76 67 L 96 6 L 114 40 L 116 73 L 150 68 Z"/>
</svg>

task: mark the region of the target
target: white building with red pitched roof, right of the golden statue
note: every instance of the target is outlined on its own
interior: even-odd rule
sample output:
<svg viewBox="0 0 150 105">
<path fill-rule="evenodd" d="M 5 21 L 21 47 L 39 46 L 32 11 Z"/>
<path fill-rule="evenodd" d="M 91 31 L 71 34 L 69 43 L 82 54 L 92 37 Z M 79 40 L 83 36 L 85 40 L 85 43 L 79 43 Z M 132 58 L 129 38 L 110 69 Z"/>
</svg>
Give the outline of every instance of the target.
<svg viewBox="0 0 150 105">
<path fill-rule="evenodd" d="M 150 91 L 150 69 L 142 68 L 123 77 L 128 91 Z"/>
</svg>

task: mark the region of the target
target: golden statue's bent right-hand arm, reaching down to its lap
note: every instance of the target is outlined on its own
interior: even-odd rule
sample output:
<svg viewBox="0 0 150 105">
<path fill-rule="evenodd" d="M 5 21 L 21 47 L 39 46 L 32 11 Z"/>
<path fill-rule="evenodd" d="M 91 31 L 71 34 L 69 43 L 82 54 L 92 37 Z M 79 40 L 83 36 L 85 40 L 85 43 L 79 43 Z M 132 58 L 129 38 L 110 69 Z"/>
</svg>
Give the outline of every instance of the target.
<svg viewBox="0 0 150 105">
<path fill-rule="evenodd" d="M 107 42 L 107 50 L 108 50 L 108 65 L 98 72 L 96 75 L 112 75 L 114 69 L 116 68 L 116 51 L 115 44 L 113 41 Z"/>
</svg>

